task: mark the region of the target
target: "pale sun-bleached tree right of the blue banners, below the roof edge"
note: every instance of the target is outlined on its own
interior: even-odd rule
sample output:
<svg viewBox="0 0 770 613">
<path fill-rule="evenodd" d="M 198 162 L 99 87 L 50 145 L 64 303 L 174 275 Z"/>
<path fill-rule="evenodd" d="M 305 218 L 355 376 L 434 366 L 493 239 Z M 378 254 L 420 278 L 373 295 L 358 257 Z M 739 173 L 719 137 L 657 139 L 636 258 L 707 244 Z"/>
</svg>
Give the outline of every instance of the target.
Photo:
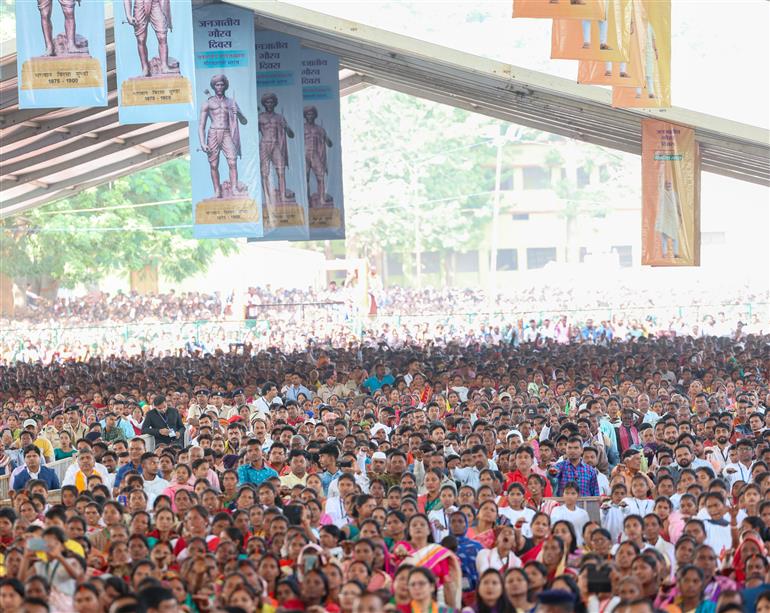
<svg viewBox="0 0 770 613">
<path fill-rule="evenodd" d="M 375 87 L 346 98 L 351 250 L 374 256 L 475 246 L 491 217 L 488 134 L 499 123 Z"/>
</svg>

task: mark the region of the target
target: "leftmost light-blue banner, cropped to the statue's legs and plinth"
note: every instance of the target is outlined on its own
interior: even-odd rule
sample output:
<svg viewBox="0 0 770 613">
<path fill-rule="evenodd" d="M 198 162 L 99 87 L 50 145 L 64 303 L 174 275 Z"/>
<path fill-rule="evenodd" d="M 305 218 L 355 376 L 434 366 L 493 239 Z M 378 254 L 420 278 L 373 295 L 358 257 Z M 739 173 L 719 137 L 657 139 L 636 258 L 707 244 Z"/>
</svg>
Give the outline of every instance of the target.
<svg viewBox="0 0 770 613">
<path fill-rule="evenodd" d="M 107 106 L 102 0 L 18 0 L 19 108 Z"/>
</svg>

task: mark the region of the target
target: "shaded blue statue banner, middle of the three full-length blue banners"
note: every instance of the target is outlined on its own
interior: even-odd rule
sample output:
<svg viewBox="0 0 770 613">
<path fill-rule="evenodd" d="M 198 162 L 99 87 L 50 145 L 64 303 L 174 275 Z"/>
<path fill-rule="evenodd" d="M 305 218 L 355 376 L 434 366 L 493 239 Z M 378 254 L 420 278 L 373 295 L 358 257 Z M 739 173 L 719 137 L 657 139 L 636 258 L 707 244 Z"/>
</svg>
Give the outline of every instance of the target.
<svg viewBox="0 0 770 613">
<path fill-rule="evenodd" d="M 299 40 L 269 30 L 259 30 L 255 36 L 264 238 L 307 240 Z"/>
</svg>

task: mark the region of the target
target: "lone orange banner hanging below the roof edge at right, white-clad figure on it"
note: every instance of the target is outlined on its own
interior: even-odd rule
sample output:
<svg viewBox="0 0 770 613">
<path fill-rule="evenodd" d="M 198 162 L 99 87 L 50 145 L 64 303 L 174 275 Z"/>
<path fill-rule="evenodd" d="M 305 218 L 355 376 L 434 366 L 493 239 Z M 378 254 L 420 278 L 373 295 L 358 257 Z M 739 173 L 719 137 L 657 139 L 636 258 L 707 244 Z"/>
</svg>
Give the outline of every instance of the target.
<svg viewBox="0 0 770 613">
<path fill-rule="evenodd" d="M 700 154 L 695 130 L 642 120 L 642 264 L 700 265 Z"/>
</svg>

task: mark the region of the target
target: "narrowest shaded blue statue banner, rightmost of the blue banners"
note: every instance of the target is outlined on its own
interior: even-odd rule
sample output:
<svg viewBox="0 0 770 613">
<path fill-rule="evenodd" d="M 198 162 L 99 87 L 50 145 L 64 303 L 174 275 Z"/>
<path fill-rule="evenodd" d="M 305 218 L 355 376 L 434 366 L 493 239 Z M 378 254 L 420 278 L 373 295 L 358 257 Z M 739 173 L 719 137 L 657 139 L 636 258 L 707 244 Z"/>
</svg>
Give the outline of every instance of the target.
<svg viewBox="0 0 770 613">
<path fill-rule="evenodd" d="M 345 238 L 340 128 L 340 61 L 302 49 L 302 114 L 310 239 Z"/>
</svg>

